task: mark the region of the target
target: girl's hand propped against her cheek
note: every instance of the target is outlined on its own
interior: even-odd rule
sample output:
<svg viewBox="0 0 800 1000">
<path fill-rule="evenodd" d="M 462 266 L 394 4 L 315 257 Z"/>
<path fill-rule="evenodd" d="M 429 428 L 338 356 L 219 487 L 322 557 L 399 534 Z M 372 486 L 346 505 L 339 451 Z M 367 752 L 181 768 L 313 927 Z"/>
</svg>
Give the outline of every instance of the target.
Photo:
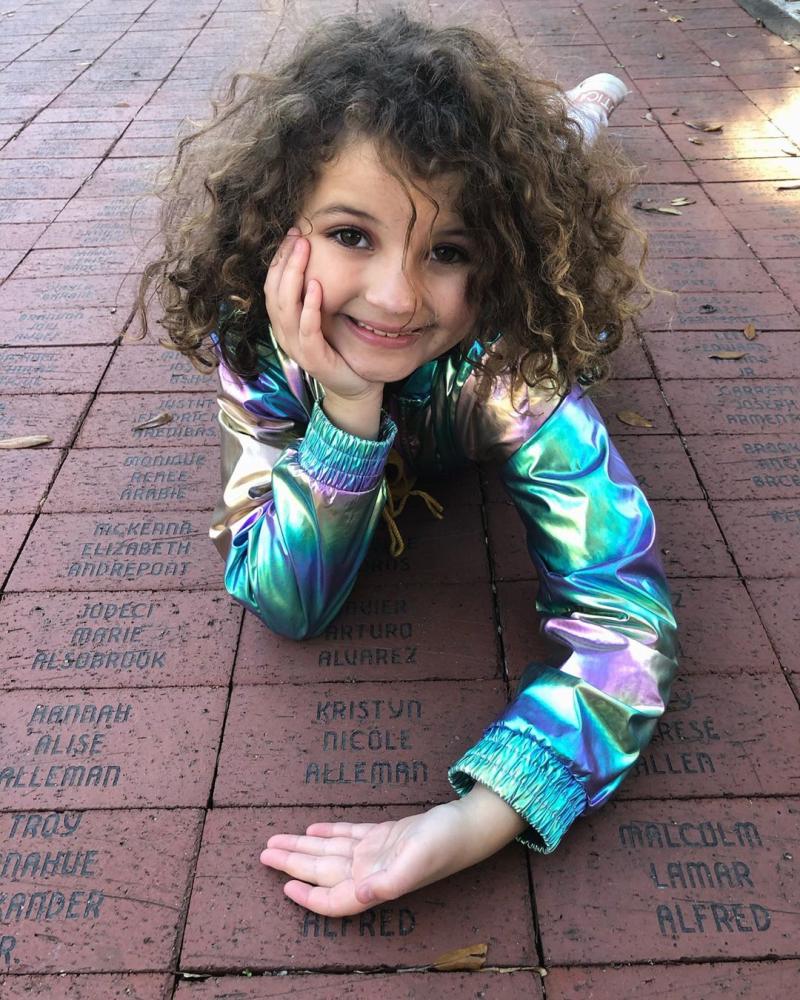
<svg viewBox="0 0 800 1000">
<path fill-rule="evenodd" d="M 303 297 L 303 282 L 311 244 L 294 227 L 272 259 L 264 295 L 272 332 L 281 348 L 317 379 L 326 395 L 357 402 L 380 398 L 383 384 L 357 375 L 322 334 L 322 286 L 311 279 Z"/>
</svg>

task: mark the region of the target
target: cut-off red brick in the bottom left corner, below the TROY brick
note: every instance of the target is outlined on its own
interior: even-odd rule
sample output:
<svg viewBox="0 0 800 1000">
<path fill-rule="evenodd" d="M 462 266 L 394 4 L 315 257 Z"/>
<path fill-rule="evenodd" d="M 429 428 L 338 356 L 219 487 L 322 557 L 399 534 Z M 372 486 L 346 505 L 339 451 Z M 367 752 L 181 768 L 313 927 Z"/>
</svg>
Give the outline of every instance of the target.
<svg viewBox="0 0 800 1000">
<path fill-rule="evenodd" d="M 82 976 L 0 976 L 5 1000 L 165 1000 L 172 990 L 172 976 L 164 973 L 126 973 Z"/>
</svg>

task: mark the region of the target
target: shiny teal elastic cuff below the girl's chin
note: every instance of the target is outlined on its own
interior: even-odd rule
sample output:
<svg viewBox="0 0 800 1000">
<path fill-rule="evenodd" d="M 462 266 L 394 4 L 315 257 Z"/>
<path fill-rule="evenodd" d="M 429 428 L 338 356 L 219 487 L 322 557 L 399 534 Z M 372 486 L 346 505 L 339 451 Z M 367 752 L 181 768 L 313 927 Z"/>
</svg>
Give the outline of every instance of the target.
<svg viewBox="0 0 800 1000">
<path fill-rule="evenodd" d="M 356 437 L 332 424 L 319 403 L 314 403 L 297 460 L 301 469 L 325 486 L 365 493 L 382 479 L 396 433 L 395 422 L 382 411 L 378 440 Z"/>
</svg>

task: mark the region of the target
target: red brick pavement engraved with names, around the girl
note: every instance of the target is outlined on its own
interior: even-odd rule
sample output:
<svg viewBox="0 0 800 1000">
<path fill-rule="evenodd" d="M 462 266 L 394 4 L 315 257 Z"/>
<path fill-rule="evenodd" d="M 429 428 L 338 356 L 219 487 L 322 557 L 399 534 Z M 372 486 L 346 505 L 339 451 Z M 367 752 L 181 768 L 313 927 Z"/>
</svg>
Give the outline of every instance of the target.
<svg viewBox="0 0 800 1000">
<path fill-rule="evenodd" d="M 548 653 L 517 522 L 475 474 L 445 490 L 444 528 L 409 511 L 407 554 L 376 548 L 325 636 L 243 621 L 206 538 L 213 382 L 124 338 L 153 222 L 135 198 L 180 120 L 234 64 L 355 6 L 0 12 L 0 436 L 52 438 L 0 452 L 0 995 L 794 995 L 800 53 L 733 0 L 410 5 L 461 11 L 565 85 L 618 72 L 632 94 L 611 133 L 643 167 L 642 203 L 691 200 L 641 213 L 650 274 L 677 295 L 598 395 L 653 501 L 681 623 L 656 738 L 546 858 L 511 845 L 349 920 L 300 910 L 258 864 L 273 830 L 448 797 L 446 766 Z M 346 726 L 333 746 L 321 731 L 324 706 L 351 702 L 366 753 Z M 420 971 L 475 943 L 515 971 Z"/>
</svg>

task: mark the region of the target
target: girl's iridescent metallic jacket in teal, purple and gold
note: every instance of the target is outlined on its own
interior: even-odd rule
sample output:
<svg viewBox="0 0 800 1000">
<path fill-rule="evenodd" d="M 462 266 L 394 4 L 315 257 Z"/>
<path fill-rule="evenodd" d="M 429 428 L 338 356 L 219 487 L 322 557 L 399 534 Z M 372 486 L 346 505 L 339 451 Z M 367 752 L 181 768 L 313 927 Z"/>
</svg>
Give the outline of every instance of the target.
<svg viewBox="0 0 800 1000">
<path fill-rule="evenodd" d="M 480 403 L 456 348 L 400 385 L 368 441 L 327 420 L 319 383 L 274 341 L 260 370 L 243 381 L 219 369 L 223 494 L 211 537 L 228 592 L 281 635 L 318 634 L 347 598 L 386 503 L 398 427 L 417 473 L 499 464 L 527 530 L 542 630 L 568 656 L 530 664 L 448 776 L 459 795 L 488 785 L 530 824 L 518 839 L 552 851 L 636 761 L 676 666 L 653 515 L 594 405 L 580 388 L 558 398 L 502 381 Z"/>
</svg>

